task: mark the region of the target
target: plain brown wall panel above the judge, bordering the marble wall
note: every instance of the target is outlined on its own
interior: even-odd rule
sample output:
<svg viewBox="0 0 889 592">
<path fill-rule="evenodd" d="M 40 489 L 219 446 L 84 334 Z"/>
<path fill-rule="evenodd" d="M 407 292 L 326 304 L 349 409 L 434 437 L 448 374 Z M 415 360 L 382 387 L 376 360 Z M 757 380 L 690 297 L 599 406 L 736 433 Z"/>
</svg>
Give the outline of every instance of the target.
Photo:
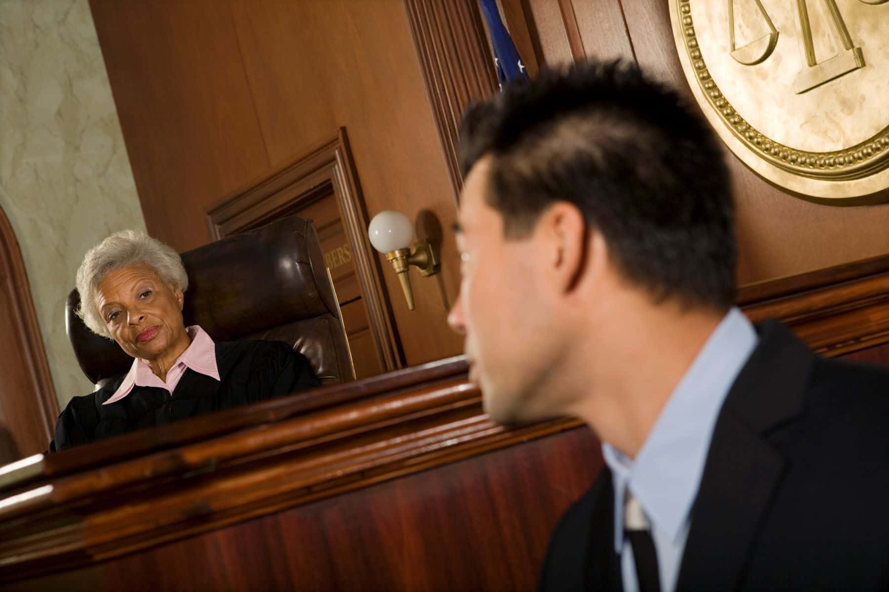
<svg viewBox="0 0 889 592">
<path fill-rule="evenodd" d="M 148 233 L 199 247 L 204 209 L 269 164 L 228 4 L 90 6 Z"/>
</svg>

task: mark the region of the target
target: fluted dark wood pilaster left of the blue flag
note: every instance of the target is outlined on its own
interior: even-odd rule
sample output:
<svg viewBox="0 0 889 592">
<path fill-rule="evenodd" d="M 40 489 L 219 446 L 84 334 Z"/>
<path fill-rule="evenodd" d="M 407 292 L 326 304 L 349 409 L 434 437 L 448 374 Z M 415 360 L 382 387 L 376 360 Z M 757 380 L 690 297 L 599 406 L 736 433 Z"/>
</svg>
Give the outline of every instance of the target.
<svg viewBox="0 0 889 592">
<path fill-rule="evenodd" d="M 463 186 L 457 138 L 472 99 L 497 91 L 493 56 L 476 0 L 404 0 L 454 194 Z"/>
</svg>

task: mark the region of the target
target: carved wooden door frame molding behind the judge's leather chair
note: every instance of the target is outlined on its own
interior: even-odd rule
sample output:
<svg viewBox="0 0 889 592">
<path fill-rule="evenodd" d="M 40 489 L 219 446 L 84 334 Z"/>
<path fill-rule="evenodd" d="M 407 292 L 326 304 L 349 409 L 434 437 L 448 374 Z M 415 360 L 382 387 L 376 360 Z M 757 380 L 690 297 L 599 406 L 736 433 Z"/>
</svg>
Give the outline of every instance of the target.
<svg viewBox="0 0 889 592">
<path fill-rule="evenodd" d="M 281 170 L 245 191 L 220 201 L 207 210 L 207 226 L 213 240 L 254 228 L 287 216 L 333 193 L 340 206 L 343 226 L 355 257 L 373 342 L 380 366 L 387 371 L 404 366 L 404 353 L 396 333 L 380 269 L 367 236 L 367 212 L 346 129 L 290 162 Z"/>
</svg>

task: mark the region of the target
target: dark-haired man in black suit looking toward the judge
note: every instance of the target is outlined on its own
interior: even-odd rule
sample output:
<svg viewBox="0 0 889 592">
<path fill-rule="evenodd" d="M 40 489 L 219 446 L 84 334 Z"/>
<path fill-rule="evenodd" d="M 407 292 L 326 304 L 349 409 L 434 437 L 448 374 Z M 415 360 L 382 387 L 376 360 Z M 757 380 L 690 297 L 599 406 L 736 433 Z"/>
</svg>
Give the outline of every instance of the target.
<svg viewBox="0 0 889 592">
<path fill-rule="evenodd" d="M 470 108 L 461 166 L 449 322 L 486 412 L 603 442 L 542 589 L 889 586 L 889 371 L 733 306 L 707 122 L 635 67 L 575 65 Z"/>
</svg>

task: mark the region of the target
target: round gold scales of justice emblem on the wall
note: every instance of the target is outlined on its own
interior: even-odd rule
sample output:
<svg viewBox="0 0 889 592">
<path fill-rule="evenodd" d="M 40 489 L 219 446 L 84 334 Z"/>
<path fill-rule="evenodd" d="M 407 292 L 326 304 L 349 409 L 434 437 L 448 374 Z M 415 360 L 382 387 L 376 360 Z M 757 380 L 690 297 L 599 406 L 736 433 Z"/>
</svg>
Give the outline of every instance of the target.
<svg viewBox="0 0 889 592">
<path fill-rule="evenodd" d="M 889 200 L 889 0 L 669 0 L 695 99 L 749 168 L 810 201 Z"/>
</svg>

